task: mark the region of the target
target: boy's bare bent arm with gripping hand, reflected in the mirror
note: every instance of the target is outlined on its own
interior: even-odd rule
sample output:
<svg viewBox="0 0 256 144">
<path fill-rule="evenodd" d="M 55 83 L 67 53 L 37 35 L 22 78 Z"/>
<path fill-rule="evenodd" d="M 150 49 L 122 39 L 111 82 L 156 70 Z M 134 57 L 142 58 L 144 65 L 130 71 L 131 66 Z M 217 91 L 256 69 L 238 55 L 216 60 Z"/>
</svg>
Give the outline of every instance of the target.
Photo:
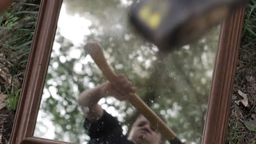
<svg viewBox="0 0 256 144">
<path fill-rule="evenodd" d="M 118 100 L 127 100 L 137 90 L 123 74 L 118 75 L 115 82 L 104 82 L 95 88 L 88 89 L 78 97 L 78 104 L 89 122 L 94 122 L 103 115 L 103 109 L 98 105 L 101 98 L 113 96 Z"/>
</svg>

